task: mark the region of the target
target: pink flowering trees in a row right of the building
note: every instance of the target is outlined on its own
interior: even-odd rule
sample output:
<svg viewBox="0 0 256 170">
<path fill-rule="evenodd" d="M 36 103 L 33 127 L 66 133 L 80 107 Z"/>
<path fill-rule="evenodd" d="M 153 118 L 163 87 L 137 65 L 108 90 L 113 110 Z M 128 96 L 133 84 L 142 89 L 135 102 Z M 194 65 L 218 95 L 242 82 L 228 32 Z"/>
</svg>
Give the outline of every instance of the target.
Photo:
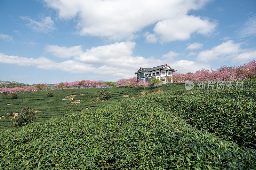
<svg viewBox="0 0 256 170">
<path fill-rule="evenodd" d="M 222 66 L 217 70 L 202 69 L 195 73 L 174 73 L 174 82 L 190 81 L 237 81 L 256 77 L 256 61 L 252 60 L 242 66 Z"/>
</svg>

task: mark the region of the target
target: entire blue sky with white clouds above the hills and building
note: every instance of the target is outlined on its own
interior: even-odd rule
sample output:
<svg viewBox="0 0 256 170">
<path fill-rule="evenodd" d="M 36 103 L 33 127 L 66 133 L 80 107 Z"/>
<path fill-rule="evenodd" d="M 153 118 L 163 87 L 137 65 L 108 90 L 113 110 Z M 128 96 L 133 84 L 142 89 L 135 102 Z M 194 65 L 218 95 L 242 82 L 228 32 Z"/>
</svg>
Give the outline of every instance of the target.
<svg viewBox="0 0 256 170">
<path fill-rule="evenodd" d="M 0 80 L 116 81 L 256 56 L 255 0 L 1 0 Z"/>
</svg>

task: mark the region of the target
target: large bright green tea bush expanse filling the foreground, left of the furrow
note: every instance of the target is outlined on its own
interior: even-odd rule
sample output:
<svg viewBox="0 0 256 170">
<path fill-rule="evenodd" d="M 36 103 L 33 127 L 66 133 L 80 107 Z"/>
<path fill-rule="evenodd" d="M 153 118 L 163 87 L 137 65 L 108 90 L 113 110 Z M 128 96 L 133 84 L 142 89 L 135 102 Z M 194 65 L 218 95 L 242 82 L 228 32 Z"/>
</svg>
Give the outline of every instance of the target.
<svg viewBox="0 0 256 170">
<path fill-rule="evenodd" d="M 196 130 L 143 96 L 3 130 L 0 167 L 255 169 L 256 152 Z"/>
</svg>

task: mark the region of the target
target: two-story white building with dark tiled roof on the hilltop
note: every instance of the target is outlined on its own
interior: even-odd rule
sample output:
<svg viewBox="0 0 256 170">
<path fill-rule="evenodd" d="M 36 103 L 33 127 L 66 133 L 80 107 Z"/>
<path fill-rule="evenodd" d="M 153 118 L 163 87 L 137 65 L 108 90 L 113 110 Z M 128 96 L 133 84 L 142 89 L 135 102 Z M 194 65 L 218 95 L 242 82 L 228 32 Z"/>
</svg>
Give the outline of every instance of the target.
<svg viewBox="0 0 256 170">
<path fill-rule="evenodd" d="M 172 81 L 172 74 L 177 70 L 172 69 L 172 67 L 168 66 L 167 64 L 162 66 L 157 66 L 153 68 L 144 68 L 140 67 L 140 69 L 135 72 L 137 74 L 137 82 L 141 80 L 151 81 L 153 78 L 159 79 L 163 81 L 163 83 L 173 82 Z"/>
</svg>

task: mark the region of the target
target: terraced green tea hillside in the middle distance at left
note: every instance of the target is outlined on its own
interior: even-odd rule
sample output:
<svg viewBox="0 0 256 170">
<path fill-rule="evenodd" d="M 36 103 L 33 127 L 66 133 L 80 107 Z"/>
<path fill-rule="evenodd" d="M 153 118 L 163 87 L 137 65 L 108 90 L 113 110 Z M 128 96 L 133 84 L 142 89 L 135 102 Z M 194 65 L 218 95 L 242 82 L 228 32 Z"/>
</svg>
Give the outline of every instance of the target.
<svg viewBox="0 0 256 170">
<path fill-rule="evenodd" d="M 164 92 L 176 91 L 185 89 L 184 84 L 164 84 L 161 85 Z M 95 98 L 99 97 L 100 90 L 109 91 L 112 97 L 105 102 L 92 103 Z M 144 91 L 144 87 L 114 87 L 114 88 L 97 88 L 97 89 L 69 89 L 69 90 L 52 90 L 53 97 L 48 97 L 49 91 L 36 91 L 19 93 L 17 99 L 12 99 L 11 95 L 0 95 L 0 118 L 8 112 L 20 113 L 20 110 L 25 106 L 29 106 L 37 112 L 38 121 L 49 120 L 52 117 L 57 117 L 70 112 L 82 111 L 86 108 L 99 107 L 113 102 L 120 102 L 127 97 L 124 95 L 138 95 Z M 153 92 L 156 88 L 145 88 L 145 91 Z M 67 96 L 74 96 L 73 99 L 63 100 Z M 76 101 L 80 102 L 78 104 Z M 73 103 L 74 102 L 74 103 Z M 72 104 L 73 103 L 73 104 Z M 3 117 L 2 117 L 3 118 Z M 11 128 L 10 119 L 0 119 L 0 129 Z"/>
</svg>

